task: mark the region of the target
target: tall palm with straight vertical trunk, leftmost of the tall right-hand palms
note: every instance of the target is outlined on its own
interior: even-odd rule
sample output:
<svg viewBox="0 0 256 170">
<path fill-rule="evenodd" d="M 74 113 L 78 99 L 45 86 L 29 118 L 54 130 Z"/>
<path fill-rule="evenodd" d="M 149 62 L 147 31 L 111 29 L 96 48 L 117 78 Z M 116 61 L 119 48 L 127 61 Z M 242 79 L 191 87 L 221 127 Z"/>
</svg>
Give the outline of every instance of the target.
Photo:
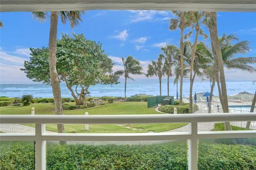
<svg viewBox="0 0 256 170">
<path fill-rule="evenodd" d="M 183 59 L 183 32 L 184 29 L 187 27 L 185 14 L 184 11 L 172 11 L 172 13 L 176 16 L 176 19 L 170 20 L 170 30 L 177 30 L 180 29 L 180 105 L 182 104 L 182 87 L 183 87 L 183 70 L 184 70 L 184 59 Z"/>
</svg>

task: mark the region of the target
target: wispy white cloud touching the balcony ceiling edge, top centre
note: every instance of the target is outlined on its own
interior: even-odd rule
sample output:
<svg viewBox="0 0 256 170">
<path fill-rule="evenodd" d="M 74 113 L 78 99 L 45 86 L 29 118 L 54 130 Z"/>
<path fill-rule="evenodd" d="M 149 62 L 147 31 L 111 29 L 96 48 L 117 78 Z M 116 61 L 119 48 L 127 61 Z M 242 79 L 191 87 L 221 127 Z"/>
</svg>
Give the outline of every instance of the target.
<svg viewBox="0 0 256 170">
<path fill-rule="evenodd" d="M 163 21 L 163 20 L 169 20 L 172 16 L 171 11 L 130 10 L 130 12 L 132 13 L 131 22 Z"/>
</svg>

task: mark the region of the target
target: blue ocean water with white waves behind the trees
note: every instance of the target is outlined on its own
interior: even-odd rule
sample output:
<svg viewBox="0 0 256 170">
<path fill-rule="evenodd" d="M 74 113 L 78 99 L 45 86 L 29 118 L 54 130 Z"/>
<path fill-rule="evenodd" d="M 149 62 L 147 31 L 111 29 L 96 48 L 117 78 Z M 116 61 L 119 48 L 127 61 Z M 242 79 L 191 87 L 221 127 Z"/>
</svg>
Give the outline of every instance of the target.
<svg viewBox="0 0 256 170">
<path fill-rule="evenodd" d="M 60 84 L 61 96 L 71 97 L 70 91 L 67 89 L 65 83 Z M 179 87 L 179 86 L 178 86 Z M 179 90 L 179 89 L 178 89 Z M 239 82 L 227 82 L 228 95 L 235 95 L 242 91 L 250 92 L 254 94 L 256 90 L 256 84 L 254 85 L 249 81 Z M 121 80 L 119 84 L 103 85 L 97 84 L 89 88 L 91 96 L 124 96 L 124 82 Z M 210 91 L 209 81 L 195 81 L 193 88 L 194 93 Z M 21 97 L 22 95 L 33 95 L 38 97 L 53 97 L 51 86 L 44 84 L 0 84 L 0 96 L 7 97 Z M 129 80 L 127 82 L 126 96 L 132 96 L 135 94 L 148 94 L 159 95 L 159 83 L 158 79 L 138 79 L 135 81 Z M 217 86 L 214 88 L 214 95 L 218 95 Z M 167 95 L 167 80 L 164 79 L 162 83 L 162 95 Z M 173 85 L 173 81 L 170 83 L 170 95 L 176 96 L 176 85 Z M 183 82 L 183 96 L 189 96 L 189 82 Z"/>
</svg>

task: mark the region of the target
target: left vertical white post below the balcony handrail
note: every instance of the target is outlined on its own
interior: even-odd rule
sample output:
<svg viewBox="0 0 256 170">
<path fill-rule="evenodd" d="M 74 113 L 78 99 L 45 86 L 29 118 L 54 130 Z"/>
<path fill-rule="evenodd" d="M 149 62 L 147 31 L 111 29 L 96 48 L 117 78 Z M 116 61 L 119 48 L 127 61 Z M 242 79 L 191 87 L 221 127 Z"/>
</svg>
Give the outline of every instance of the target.
<svg viewBox="0 0 256 170">
<path fill-rule="evenodd" d="M 42 140 L 45 133 L 45 124 L 36 124 L 36 170 L 46 169 L 46 141 Z"/>
</svg>

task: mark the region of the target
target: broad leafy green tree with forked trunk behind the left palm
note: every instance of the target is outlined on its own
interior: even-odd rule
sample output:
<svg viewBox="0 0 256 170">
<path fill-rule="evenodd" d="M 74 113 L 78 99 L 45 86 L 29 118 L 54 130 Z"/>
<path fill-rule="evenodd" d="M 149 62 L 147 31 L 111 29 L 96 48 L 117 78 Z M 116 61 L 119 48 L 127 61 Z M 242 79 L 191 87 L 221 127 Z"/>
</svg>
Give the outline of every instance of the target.
<svg viewBox="0 0 256 170">
<path fill-rule="evenodd" d="M 32 57 L 25 61 L 25 69 L 21 70 L 33 81 L 50 84 L 49 48 L 30 50 Z M 77 105 L 84 104 L 90 86 L 118 83 L 112 71 L 114 64 L 101 49 L 101 44 L 85 39 L 84 35 L 74 34 L 74 38 L 62 35 L 57 42 L 56 56 L 58 77 L 66 83 Z M 79 92 L 78 87 L 81 88 Z"/>
</svg>

